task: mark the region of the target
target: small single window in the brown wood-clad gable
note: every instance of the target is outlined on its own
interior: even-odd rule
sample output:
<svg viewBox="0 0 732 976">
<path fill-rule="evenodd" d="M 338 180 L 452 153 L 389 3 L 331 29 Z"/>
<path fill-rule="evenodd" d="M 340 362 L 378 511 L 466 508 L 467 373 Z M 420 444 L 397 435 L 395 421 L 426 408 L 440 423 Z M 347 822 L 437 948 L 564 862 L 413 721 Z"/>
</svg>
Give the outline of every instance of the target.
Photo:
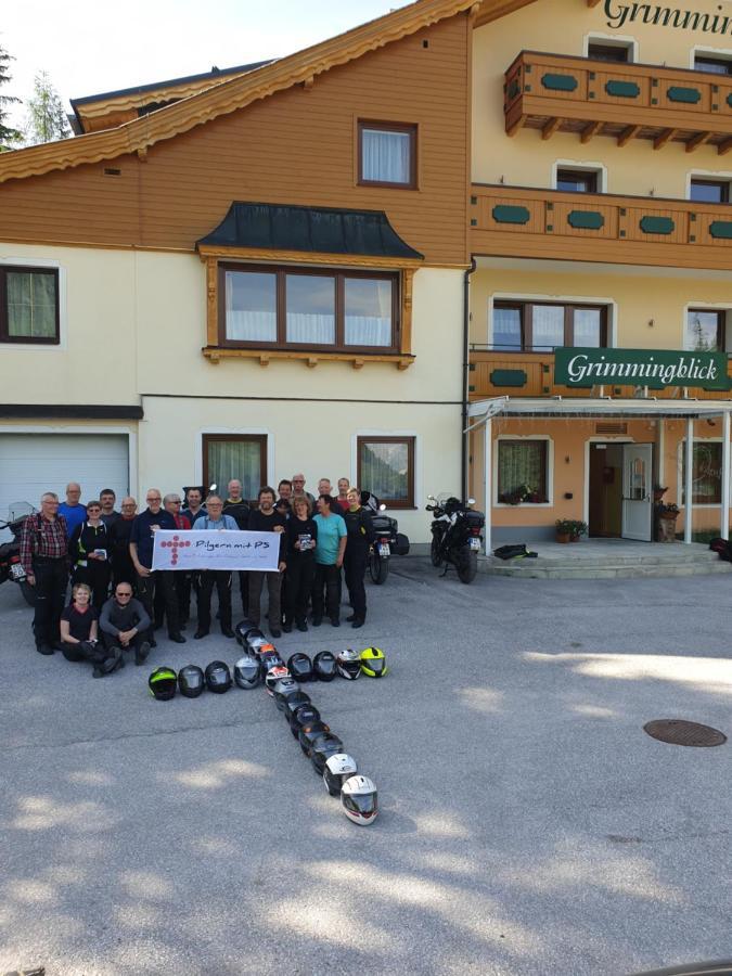
<svg viewBox="0 0 732 976">
<path fill-rule="evenodd" d="M 358 181 L 416 189 L 416 126 L 359 123 Z"/>
</svg>

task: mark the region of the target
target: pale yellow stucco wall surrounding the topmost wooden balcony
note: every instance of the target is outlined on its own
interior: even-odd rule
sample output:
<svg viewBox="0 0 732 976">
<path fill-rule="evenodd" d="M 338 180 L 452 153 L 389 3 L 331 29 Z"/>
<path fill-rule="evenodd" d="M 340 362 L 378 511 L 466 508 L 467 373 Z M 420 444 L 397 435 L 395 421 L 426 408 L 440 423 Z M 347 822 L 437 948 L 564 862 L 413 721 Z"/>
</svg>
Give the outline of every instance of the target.
<svg viewBox="0 0 732 976">
<path fill-rule="evenodd" d="M 613 0 L 614 15 L 634 4 Z M 640 4 L 643 7 L 644 4 Z M 720 4 L 694 0 L 682 4 L 694 12 L 719 14 Z M 653 7 L 653 4 L 652 4 Z M 671 4 L 673 7 L 673 4 Z M 732 16 L 724 4 L 722 15 Z M 729 156 L 719 156 L 715 146 L 701 146 L 693 154 L 680 143 L 669 143 L 655 152 L 650 140 L 632 140 L 620 147 L 616 140 L 598 137 L 583 145 L 578 136 L 556 133 L 543 141 L 538 130 L 505 134 L 503 118 L 503 75 L 522 51 L 585 56 L 587 39 L 634 39 L 635 61 L 689 68 L 693 49 L 725 50 L 732 53 L 732 35 L 704 34 L 690 29 L 626 23 L 619 29 L 607 26 L 605 4 L 588 8 L 579 0 L 539 0 L 474 31 L 473 40 L 473 180 L 518 187 L 552 185 L 556 160 L 574 165 L 602 164 L 607 168 L 605 192 L 685 198 L 690 172 L 720 174 L 732 178 Z"/>
</svg>

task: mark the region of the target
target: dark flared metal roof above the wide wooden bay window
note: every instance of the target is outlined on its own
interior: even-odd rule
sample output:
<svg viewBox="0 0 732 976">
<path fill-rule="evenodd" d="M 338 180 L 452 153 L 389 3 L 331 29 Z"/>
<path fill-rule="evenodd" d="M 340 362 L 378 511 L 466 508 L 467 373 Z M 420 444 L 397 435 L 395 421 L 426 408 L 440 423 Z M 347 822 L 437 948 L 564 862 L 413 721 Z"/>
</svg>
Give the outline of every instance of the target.
<svg viewBox="0 0 732 976">
<path fill-rule="evenodd" d="M 197 245 L 423 258 L 395 231 L 383 210 L 342 210 L 290 204 L 232 203 L 221 223 Z"/>
</svg>

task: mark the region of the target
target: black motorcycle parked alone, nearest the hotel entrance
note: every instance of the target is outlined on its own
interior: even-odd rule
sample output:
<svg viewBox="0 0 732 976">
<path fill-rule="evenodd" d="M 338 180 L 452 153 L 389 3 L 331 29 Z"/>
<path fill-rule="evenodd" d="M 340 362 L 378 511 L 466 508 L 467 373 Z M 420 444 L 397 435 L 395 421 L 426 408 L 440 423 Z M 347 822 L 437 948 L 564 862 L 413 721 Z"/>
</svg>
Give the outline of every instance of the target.
<svg viewBox="0 0 732 976">
<path fill-rule="evenodd" d="M 454 566 L 461 582 L 473 582 L 478 572 L 478 552 L 483 541 L 480 530 L 486 524 L 486 516 L 470 508 L 475 504 L 473 498 L 466 502 L 452 497 L 438 501 L 431 495 L 429 500 L 434 502 L 426 506 L 433 515 L 429 548 L 433 566 L 444 565 L 445 573 Z"/>
</svg>

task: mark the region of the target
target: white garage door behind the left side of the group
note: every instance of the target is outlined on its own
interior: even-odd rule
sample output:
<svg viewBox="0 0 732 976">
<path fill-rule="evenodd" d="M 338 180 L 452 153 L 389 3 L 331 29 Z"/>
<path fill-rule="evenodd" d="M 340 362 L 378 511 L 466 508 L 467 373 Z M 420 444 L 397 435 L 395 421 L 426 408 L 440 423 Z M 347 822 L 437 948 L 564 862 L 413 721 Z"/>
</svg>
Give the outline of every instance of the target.
<svg viewBox="0 0 732 976">
<path fill-rule="evenodd" d="M 81 485 L 81 501 L 113 488 L 129 492 L 128 438 L 124 434 L 0 434 L 0 518 L 13 502 L 36 509 L 43 491 L 61 501 L 69 481 Z"/>
</svg>

